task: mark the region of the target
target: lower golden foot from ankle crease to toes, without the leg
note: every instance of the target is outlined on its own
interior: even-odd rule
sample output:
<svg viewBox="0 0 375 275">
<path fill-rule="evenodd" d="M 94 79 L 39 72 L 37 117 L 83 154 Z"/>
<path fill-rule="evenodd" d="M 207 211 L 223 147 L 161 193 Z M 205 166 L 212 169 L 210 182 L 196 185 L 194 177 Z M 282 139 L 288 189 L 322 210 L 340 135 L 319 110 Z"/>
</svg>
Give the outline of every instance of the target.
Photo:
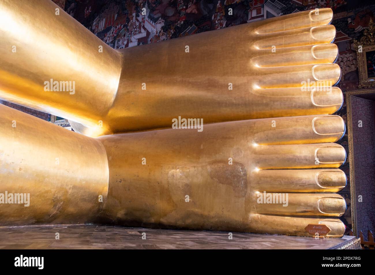
<svg viewBox="0 0 375 275">
<path fill-rule="evenodd" d="M 346 176 L 330 168 L 345 162 L 333 143 L 344 132 L 341 117 L 320 115 L 100 137 L 110 169 L 105 214 L 132 226 L 341 237 L 334 218 L 346 203 L 332 192 Z M 314 225 L 329 230 L 305 230 Z"/>
</svg>

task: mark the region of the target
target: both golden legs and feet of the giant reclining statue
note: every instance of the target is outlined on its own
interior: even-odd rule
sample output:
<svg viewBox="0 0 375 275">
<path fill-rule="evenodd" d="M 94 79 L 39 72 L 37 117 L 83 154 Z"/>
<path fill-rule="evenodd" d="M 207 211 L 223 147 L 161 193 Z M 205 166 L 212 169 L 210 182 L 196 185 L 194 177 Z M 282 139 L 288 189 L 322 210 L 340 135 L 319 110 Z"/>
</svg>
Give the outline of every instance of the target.
<svg viewBox="0 0 375 275">
<path fill-rule="evenodd" d="M 116 50 L 52 1 L 0 1 L 0 98 L 74 129 L 0 106 L 0 192 L 30 193 L 27 207 L 0 207 L 0 225 L 342 237 L 332 17 Z"/>
</svg>

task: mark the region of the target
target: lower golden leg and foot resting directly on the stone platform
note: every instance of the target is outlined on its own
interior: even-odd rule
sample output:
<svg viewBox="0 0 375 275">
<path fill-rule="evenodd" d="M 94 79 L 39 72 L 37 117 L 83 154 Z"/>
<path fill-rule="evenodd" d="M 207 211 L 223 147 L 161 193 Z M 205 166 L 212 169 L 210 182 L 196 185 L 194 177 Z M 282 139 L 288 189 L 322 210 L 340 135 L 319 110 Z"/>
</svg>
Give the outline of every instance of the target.
<svg viewBox="0 0 375 275">
<path fill-rule="evenodd" d="M 341 237 L 341 117 L 243 120 L 90 138 L 0 106 L 1 225 L 105 222 Z M 17 122 L 12 127 L 12 120 Z M 64 146 L 56 146 L 64 144 Z M 317 169 L 314 169 L 317 168 Z"/>
</svg>

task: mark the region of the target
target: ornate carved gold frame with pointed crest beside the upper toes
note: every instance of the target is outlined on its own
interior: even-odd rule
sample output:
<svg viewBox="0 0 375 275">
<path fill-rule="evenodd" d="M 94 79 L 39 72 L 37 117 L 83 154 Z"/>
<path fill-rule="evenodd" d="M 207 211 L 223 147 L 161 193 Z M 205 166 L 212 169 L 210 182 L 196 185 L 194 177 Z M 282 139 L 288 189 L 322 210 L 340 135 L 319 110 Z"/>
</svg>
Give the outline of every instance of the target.
<svg viewBox="0 0 375 275">
<path fill-rule="evenodd" d="M 354 40 L 354 48 L 357 51 L 359 88 L 375 88 L 375 77 L 368 77 L 366 52 L 375 51 L 375 24 L 372 19 L 369 27 L 363 32 L 360 41 Z"/>
</svg>

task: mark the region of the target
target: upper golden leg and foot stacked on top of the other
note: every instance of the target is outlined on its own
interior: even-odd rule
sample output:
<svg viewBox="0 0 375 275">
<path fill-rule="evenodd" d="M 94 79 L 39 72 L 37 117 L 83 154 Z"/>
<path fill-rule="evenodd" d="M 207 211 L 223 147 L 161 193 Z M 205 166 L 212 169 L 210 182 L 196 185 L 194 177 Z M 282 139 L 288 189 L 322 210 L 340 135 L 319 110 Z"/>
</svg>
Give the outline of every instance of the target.
<svg viewBox="0 0 375 275">
<path fill-rule="evenodd" d="M 331 9 L 114 50 L 56 7 L 1 1 L 0 97 L 68 118 L 85 135 L 171 128 L 178 116 L 212 123 L 342 105 L 341 90 L 330 89 L 341 76 L 331 64 Z"/>
</svg>

